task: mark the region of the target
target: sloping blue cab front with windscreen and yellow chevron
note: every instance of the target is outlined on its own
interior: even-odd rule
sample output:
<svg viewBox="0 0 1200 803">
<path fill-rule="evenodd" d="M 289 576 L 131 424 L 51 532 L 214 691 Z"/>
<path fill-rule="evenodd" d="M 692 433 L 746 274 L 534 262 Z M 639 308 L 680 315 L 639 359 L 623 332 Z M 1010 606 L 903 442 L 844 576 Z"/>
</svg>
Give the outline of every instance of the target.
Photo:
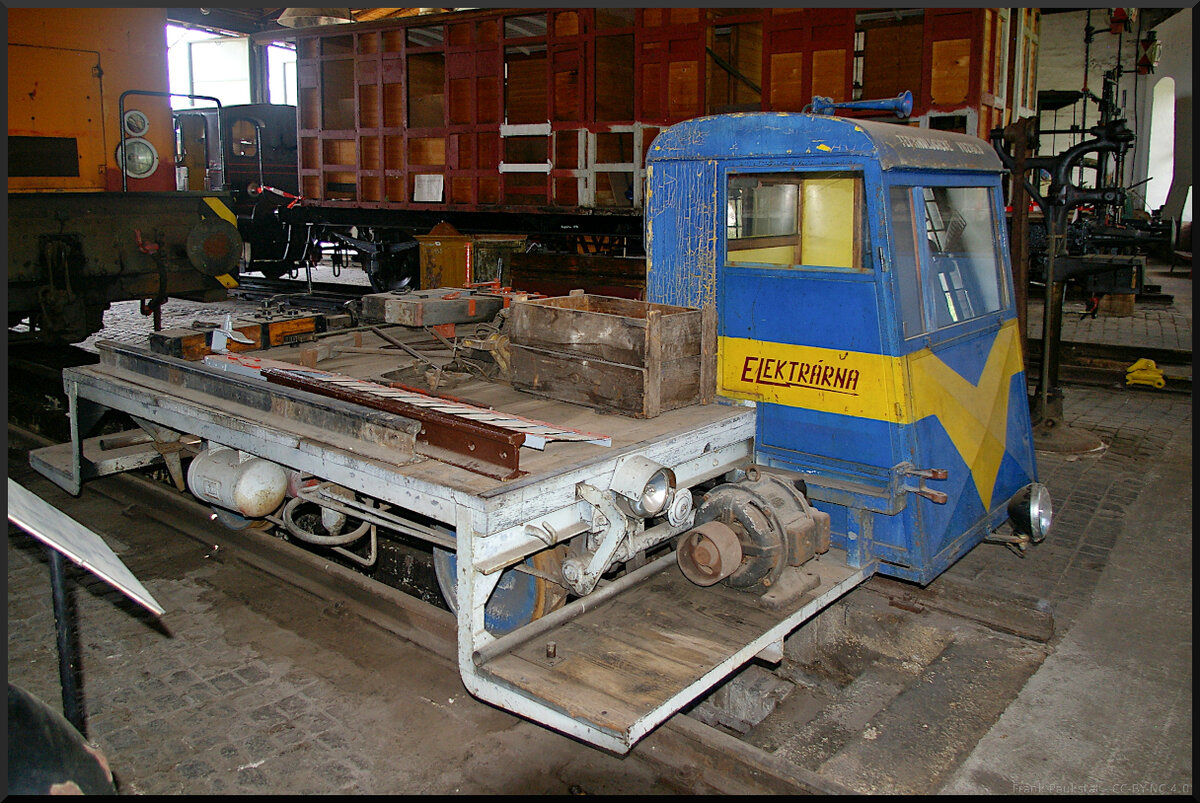
<svg viewBox="0 0 1200 803">
<path fill-rule="evenodd" d="M 1036 479 L 1000 199 L 998 181 L 966 174 L 888 187 L 910 486 L 931 491 L 910 499 L 916 563 L 898 574 L 913 580 L 971 549 Z"/>
</svg>

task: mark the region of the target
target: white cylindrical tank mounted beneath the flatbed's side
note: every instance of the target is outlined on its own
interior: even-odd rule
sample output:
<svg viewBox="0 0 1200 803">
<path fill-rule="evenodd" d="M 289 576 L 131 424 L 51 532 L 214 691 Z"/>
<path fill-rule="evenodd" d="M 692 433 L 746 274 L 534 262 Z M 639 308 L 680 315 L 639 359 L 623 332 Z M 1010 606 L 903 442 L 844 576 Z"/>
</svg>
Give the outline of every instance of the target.
<svg viewBox="0 0 1200 803">
<path fill-rule="evenodd" d="M 200 499 L 258 519 L 276 510 L 288 490 L 283 467 L 235 449 L 208 449 L 187 468 L 187 487 Z"/>
</svg>

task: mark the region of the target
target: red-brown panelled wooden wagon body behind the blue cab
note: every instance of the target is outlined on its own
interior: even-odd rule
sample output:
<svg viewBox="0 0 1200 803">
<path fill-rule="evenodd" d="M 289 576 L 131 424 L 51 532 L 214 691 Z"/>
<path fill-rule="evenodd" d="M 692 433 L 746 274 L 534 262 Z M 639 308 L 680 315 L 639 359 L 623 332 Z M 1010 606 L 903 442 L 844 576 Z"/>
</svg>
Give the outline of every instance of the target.
<svg viewBox="0 0 1200 803">
<path fill-rule="evenodd" d="M 1032 113 L 1037 30 L 1031 8 L 478 10 L 298 30 L 300 191 L 640 216 L 654 136 L 689 118 L 907 90 L 901 122 L 986 138 Z"/>
</svg>

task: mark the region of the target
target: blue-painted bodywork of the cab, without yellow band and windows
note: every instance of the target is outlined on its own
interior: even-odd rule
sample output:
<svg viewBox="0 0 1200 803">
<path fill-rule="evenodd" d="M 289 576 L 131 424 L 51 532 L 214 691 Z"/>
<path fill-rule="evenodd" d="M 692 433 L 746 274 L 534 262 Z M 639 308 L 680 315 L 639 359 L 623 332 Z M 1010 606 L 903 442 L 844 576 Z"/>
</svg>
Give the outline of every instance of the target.
<svg viewBox="0 0 1200 803">
<path fill-rule="evenodd" d="M 864 227 L 856 235 L 862 238 L 862 270 L 725 264 L 730 175 L 788 170 L 863 176 Z M 647 156 L 647 299 L 714 307 L 718 334 L 726 342 L 749 340 L 893 358 L 929 347 L 973 383 L 972 377 L 982 371 L 980 355 L 990 352 L 1001 323 L 1013 318 L 1015 308 L 1009 301 L 990 317 L 924 340 L 905 340 L 896 301 L 899 280 L 890 270 L 889 190 L 986 187 L 996 220 L 1002 220 L 1003 172 L 995 151 L 980 139 L 895 124 L 793 113 L 679 122 L 659 133 Z M 1001 236 L 1000 227 L 995 235 Z M 967 352 L 980 364 L 961 365 L 970 355 L 956 356 Z M 1012 455 L 1028 453 L 1028 460 L 1002 466 L 1008 472 L 1002 483 L 1006 490 L 990 509 L 970 489 L 964 491 L 970 468 L 932 419 L 920 424 L 924 429 L 918 433 L 912 424 L 886 418 L 760 401 L 756 460 L 809 478 L 814 503 L 833 517 L 834 544 L 847 550 L 852 564 L 878 559 L 883 574 L 928 582 L 1001 523 L 1007 514 L 1000 496 L 1007 498 L 1014 483 L 1032 479 L 1022 383 L 1024 374 L 1008 388 L 1010 418 L 1015 418 L 1006 442 Z M 1021 437 L 1030 443 L 1019 442 Z M 911 502 L 905 490 L 908 479 L 899 468 L 904 465 L 950 471 L 954 480 L 944 487 L 953 504 L 942 509 L 919 497 Z"/>
</svg>

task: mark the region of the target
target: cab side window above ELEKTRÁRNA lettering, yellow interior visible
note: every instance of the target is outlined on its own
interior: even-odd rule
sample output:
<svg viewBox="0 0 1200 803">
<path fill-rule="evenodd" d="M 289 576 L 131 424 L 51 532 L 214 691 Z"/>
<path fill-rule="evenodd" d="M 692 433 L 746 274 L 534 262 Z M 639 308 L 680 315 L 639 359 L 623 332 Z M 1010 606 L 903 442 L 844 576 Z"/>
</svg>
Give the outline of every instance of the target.
<svg viewBox="0 0 1200 803">
<path fill-rule="evenodd" d="M 862 174 L 733 174 L 726 197 L 726 264 L 870 270 Z"/>
</svg>

